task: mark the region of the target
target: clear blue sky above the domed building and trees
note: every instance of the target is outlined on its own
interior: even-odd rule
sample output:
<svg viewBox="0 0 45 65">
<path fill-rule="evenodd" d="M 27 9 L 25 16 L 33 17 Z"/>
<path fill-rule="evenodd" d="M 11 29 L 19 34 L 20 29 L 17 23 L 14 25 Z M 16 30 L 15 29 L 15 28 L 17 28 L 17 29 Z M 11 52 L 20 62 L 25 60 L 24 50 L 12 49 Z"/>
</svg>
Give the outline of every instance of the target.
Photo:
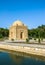
<svg viewBox="0 0 45 65">
<path fill-rule="evenodd" d="M 28 28 L 45 25 L 45 0 L 0 0 L 0 27 L 21 20 Z"/>
</svg>

